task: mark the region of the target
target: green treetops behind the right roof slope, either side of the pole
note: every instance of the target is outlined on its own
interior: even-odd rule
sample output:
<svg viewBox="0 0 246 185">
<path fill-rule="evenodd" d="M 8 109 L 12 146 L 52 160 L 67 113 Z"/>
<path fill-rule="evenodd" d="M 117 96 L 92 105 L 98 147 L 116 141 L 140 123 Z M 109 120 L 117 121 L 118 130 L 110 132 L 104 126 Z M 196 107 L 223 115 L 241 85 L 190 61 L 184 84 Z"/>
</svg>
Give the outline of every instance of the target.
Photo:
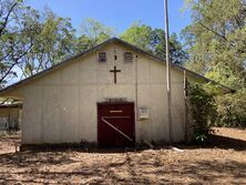
<svg viewBox="0 0 246 185">
<path fill-rule="evenodd" d="M 165 32 L 162 29 L 153 29 L 150 25 L 134 22 L 121 38 L 141 49 L 165 59 Z M 187 60 L 177 35 L 173 33 L 170 38 L 171 59 L 173 63 L 182 65 Z"/>
</svg>

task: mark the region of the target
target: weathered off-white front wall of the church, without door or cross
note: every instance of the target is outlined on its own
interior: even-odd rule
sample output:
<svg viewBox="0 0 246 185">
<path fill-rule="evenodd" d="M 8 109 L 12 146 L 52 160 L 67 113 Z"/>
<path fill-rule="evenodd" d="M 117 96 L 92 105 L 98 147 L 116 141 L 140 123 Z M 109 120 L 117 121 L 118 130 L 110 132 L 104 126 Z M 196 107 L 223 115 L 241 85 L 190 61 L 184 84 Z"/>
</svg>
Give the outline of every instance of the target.
<svg viewBox="0 0 246 185">
<path fill-rule="evenodd" d="M 96 53 L 71 61 L 22 89 L 22 144 L 98 142 L 96 103 L 106 97 L 126 97 L 136 107 L 136 141 L 168 141 L 165 65 L 139 53 L 133 63 L 123 62 L 129 48 L 110 44 Z M 131 51 L 131 50 L 130 50 Z M 114 60 L 117 55 L 117 60 Z M 116 65 L 117 84 L 113 83 Z M 184 140 L 183 75 L 172 70 L 174 138 Z M 147 120 L 139 120 L 139 107 L 146 106 Z"/>
</svg>

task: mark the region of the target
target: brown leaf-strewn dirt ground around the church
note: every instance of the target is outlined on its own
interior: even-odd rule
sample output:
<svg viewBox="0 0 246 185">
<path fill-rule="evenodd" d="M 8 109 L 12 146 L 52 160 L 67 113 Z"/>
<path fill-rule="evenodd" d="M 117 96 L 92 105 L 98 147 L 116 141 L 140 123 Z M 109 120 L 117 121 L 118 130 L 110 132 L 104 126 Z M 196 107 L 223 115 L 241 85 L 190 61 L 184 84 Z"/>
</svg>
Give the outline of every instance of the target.
<svg viewBox="0 0 246 185">
<path fill-rule="evenodd" d="M 0 135 L 0 184 L 246 184 L 246 130 L 215 129 L 208 145 L 180 150 L 18 152 Z"/>
</svg>

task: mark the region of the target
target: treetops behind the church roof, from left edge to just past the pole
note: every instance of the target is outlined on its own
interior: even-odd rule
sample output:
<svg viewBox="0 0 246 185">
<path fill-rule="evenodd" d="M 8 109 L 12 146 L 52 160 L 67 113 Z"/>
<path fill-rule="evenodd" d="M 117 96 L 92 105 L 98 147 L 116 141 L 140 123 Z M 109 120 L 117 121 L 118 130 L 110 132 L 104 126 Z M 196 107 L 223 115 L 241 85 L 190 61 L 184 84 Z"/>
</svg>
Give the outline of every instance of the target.
<svg viewBox="0 0 246 185">
<path fill-rule="evenodd" d="M 13 78 L 33 75 L 115 35 L 114 28 L 91 18 L 75 32 L 70 19 L 58 17 L 49 8 L 38 11 L 22 0 L 1 0 L 0 88 Z M 161 29 L 135 22 L 122 38 L 165 58 L 165 35 Z M 170 40 L 172 61 L 183 64 L 187 54 L 177 35 L 172 34 Z"/>
</svg>

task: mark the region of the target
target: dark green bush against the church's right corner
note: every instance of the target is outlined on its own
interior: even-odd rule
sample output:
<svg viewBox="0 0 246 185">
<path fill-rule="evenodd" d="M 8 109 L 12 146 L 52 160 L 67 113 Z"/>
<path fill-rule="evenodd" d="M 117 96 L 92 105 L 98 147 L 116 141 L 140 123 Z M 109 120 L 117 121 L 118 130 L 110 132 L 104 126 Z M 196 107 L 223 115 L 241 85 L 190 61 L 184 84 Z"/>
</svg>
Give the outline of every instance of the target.
<svg viewBox="0 0 246 185">
<path fill-rule="evenodd" d="M 195 140 L 205 142 L 211 126 L 217 119 L 215 100 L 207 93 L 201 84 L 189 84 L 188 96 L 191 103 L 191 113 L 194 123 Z"/>
</svg>

